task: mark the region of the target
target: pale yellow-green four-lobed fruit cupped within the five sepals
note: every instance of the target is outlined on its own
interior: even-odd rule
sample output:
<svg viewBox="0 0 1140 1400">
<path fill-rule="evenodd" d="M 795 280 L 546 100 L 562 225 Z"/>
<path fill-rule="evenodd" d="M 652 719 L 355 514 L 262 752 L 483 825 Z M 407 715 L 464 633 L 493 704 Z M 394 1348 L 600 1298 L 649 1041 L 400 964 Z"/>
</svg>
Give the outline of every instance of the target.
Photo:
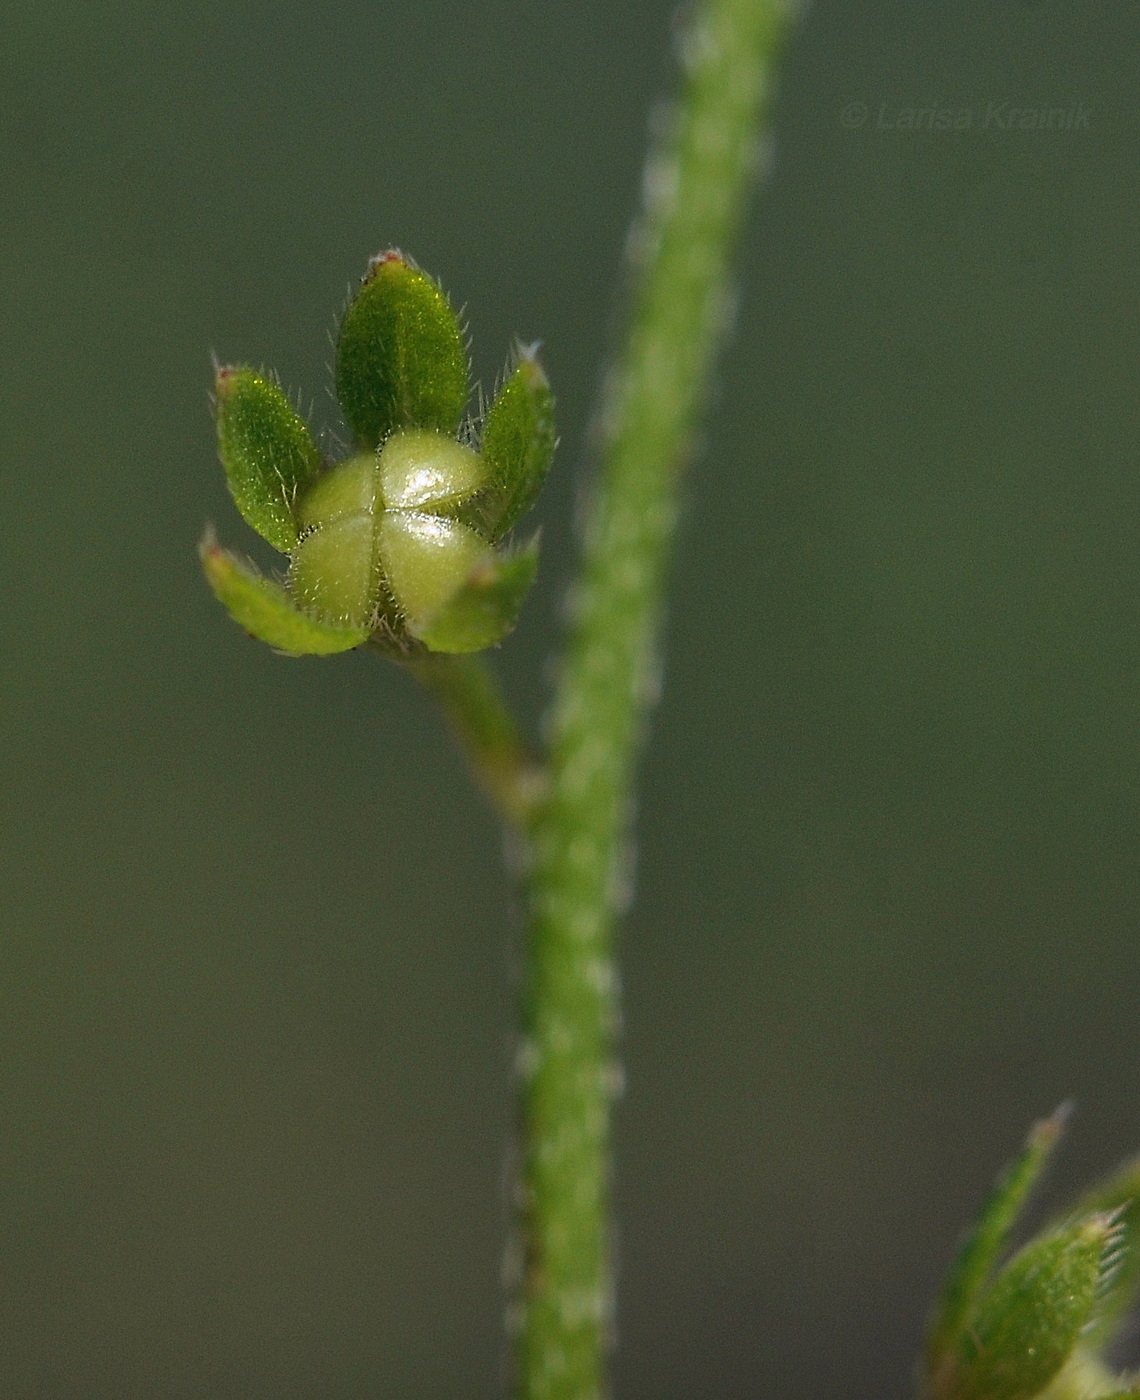
<svg viewBox="0 0 1140 1400">
<path fill-rule="evenodd" d="M 325 622 L 415 636 L 492 549 L 451 518 L 486 483 L 478 452 L 440 433 L 394 433 L 326 472 L 297 505 L 290 564 L 297 601 Z"/>
</svg>

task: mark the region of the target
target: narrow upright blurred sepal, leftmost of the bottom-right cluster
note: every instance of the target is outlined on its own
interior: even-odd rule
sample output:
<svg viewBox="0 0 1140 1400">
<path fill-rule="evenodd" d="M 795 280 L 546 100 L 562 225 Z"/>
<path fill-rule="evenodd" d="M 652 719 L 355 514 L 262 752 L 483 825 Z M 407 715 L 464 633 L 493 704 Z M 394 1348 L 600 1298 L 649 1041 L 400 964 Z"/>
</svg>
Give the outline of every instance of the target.
<svg viewBox="0 0 1140 1400">
<path fill-rule="evenodd" d="M 927 1324 L 926 1373 L 937 1376 L 966 1329 L 975 1301 L 993 1271 L 1025 1198 L 1064 1130 L 1069 1106 L 1035 1123 L 1017 1156 L 994 1183 L 975 1226 L 962 1239 Z M 936 1385 L 937 1389 L 937 1385 Z"/>
</svg>

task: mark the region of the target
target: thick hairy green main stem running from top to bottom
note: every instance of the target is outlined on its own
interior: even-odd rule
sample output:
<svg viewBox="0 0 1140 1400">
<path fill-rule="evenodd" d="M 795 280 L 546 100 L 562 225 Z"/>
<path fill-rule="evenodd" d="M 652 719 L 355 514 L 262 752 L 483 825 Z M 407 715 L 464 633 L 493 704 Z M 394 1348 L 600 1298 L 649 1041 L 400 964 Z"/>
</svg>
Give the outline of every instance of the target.
<svg viewBox="0 0 1140 1400">
<path fill-rule="evenodd" d="M 676 477 L 716 353 L 728 258 L 783 6 L 706 0 L 674 132 L 651 157 L 630 329 L 601 419 L 597 498 L 531 825 L 517 1344 L 521 1400 L 606 1392 L 612 928 L 655 650 Z"/>
</svg>

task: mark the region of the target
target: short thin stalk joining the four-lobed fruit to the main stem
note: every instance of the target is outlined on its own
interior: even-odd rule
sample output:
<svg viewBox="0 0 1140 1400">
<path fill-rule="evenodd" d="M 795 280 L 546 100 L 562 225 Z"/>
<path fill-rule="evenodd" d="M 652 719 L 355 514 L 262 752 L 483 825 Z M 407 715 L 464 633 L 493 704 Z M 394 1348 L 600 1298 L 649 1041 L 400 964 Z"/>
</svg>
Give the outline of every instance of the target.
<svg viewBox="0 0 1140 1400">
<path fill-rule="evenodd" d="M 476 783 L 506 825 L 525 830 L 545 778 L 483 657 L 424 651 L 401 665 L 436 697 Z"/>
</svg>

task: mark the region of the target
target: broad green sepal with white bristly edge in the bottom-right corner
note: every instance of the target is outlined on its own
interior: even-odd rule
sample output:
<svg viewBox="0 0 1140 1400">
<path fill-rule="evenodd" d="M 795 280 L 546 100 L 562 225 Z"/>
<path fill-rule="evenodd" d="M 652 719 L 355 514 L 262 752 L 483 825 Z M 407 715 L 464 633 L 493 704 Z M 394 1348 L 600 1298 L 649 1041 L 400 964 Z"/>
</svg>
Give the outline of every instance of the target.
<svg viewBox="0 0 1140 1400">
<path fill-rule="evenodd" d="M 1081 1217 L 1027 1245 L 959 1338 L 951 1400 L 1034 1400 L 1073 1354 L 1119 1254 L 1112 1215 Z"/>
</svg>

